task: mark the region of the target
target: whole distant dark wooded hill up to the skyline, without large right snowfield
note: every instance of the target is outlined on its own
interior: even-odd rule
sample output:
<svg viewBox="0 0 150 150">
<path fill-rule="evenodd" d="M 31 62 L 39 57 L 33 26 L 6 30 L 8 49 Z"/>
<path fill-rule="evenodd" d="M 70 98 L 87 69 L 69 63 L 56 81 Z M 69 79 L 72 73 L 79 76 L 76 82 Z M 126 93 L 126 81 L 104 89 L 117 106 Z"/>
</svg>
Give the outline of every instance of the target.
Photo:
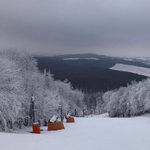
<svg viewBox="0 0 150 150">
<path fill-rule="evenodd" d="M 141 81 L 146 76 L 129 72 L 110 70 L 115 64 L 134 65 L 150 68 L 139 60 L 127 60 L 96 54 L 72 54 L 53 57 L 34 57 L 39 70 L 50 70 L 56 80 L 68 79 L 74 88 L 83 91 L 107 91 L 126 86 L 132 80 Z"/>
</svg>

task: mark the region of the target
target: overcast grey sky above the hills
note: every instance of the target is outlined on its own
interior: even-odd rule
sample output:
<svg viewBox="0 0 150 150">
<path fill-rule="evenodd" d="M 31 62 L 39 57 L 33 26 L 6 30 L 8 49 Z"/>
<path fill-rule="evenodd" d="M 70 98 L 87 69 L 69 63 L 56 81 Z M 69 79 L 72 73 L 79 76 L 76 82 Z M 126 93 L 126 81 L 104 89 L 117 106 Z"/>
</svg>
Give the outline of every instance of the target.
<svg viewBox="0 0 150 150">
<path fill-rule="evenodd" d="M 0 0 L 0 49 L 150 57 L 149 0 Z"/>
</svg>

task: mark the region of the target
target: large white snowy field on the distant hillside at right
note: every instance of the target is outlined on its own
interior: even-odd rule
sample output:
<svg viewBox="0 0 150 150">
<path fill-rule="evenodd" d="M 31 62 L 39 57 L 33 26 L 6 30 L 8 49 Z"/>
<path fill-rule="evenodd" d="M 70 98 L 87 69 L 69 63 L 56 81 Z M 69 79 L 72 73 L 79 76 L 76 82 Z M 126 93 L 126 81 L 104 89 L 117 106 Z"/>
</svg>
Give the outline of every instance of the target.
<svg viewBox="0 0 150 150">
<path fill-rule="evenodd" d="M 115 64 L 115 66 L 111 67 L 110 69 L 124 71 L 124 72 L 131 72 L 131 73 L 150 77 L 149 68 L 138 67 L 138 66 L 133 66 L 133 65 Z"/>
</svg>

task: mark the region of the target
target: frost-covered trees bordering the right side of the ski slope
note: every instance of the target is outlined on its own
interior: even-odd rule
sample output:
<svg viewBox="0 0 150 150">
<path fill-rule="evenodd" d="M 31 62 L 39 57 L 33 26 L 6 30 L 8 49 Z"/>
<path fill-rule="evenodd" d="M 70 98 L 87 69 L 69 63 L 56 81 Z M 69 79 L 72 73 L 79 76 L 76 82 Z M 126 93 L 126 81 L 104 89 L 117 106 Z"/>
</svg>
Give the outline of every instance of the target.
<svg viewBox="0 0 150 150">
<path fill-rule="evenodd" d="M 132 82 L 127 87 L 112 91 L 107 110 L 111 117 L 130 117 L 150 112 L 150 79 Z"/>
</svg>

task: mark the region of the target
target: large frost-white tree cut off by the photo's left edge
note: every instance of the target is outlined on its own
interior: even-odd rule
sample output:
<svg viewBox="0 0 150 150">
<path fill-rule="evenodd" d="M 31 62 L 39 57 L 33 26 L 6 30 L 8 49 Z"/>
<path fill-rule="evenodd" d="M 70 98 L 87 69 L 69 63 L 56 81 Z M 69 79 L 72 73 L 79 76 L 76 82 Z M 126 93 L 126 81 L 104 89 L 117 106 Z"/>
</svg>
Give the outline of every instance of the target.
<svg viewBox="0 0 150 150">
<path fill-rule="evenodd" d="M 0 55 L 0 70 L 0 117 L 6 130 L 6 123 L 14 122 L 23 111 L 23 78 L 18 65 L 7 56 Z"/>
</svg>

